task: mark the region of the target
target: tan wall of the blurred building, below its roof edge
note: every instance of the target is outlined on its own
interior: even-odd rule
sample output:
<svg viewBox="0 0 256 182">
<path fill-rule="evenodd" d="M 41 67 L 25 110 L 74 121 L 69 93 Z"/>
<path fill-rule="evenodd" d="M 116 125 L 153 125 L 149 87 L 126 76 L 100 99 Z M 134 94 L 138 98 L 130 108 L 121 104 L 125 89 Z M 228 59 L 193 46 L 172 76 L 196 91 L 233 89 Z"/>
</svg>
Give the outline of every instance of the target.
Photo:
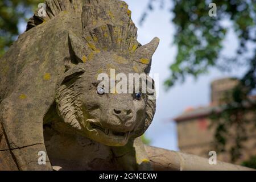
<svg viewBox="0 0 256 182">
<path fill-rule="evenodd" d="M 255 114 L 254 112 L 247 114 L 247 119 L 255 119 Z M 209 127 L 211 123 L 212 121 L 207 117 L 177 122 L 180 151 L 206 158 L 209 157 L 209 151 L 216 151 L 214 147 L 216 127 Z M 246 125 L 245 132 L 249 138 L 243 143 L 242 156 L 237 160 L 236 164 L 241 164 L 243 161 L 249 159 L 250 156 L 256 155 L 256 128 L 254 123 L 251 122 Z M 231 135 L 227 138 L 227 150 L 236 142 L 234 137 L 232 137 L 235 134 L 234 130 L 236 130 L 235 127 L 229 129 Z M 224 162 L 231 162 L 229 152 L 217 153 L 217 159 Z"/>
</svg>

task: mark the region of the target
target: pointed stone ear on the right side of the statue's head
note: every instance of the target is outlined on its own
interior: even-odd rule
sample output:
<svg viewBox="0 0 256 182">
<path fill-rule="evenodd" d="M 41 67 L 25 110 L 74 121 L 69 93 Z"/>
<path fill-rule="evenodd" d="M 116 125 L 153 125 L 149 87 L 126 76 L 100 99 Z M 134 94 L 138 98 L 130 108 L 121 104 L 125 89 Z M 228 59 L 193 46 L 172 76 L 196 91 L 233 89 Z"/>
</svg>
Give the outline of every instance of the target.
<svg viewBox="0 0 256 182">
<path fill-rule="evenodd" d="M 142 72 L 149 73 L 151 67 L 151 59 L 154 55 L 156 48 L 158 48 L 159 39 L 154 38 L 150 43 L 139 47 L 135 51 L 135 65 Z"/>
</svg>

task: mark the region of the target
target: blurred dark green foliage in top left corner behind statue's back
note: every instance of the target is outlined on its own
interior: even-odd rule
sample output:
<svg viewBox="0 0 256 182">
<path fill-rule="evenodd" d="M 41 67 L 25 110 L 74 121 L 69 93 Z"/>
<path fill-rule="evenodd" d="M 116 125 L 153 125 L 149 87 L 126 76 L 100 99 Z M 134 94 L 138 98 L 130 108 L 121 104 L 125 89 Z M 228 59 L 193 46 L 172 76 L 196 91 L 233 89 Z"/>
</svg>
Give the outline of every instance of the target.
<svg viewBox="0 0 256 182">
<path fill-rule="evenodd" d="M 19 24 L 32 16 L 39 0 L 1 0 L 0 1 L 0 57 L 7 51 L 19 35 Z"/>
</svg>

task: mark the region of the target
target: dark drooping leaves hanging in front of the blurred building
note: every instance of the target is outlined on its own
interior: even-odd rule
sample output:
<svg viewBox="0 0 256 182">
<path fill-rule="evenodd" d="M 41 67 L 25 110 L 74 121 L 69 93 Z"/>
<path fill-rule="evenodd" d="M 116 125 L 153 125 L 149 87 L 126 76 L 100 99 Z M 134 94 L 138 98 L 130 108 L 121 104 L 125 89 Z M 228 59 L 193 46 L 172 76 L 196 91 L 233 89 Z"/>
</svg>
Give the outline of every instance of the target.
<svg viewBox="0 0 256 182">
<path fill-rule="evenodd" d="M 255 101 L 246 100 L 242 102 L 232 102 L 223 105 L 218 111 L 211 115 L 212 125 L 216 127 L 214 134 L 215 150 L 218 152 L 228 152 L 230 161 L 236 162 L 241 158 L 242 150 L 245 148 L 244 142 L 255 131 L 256 110 Z"/>
</svg>

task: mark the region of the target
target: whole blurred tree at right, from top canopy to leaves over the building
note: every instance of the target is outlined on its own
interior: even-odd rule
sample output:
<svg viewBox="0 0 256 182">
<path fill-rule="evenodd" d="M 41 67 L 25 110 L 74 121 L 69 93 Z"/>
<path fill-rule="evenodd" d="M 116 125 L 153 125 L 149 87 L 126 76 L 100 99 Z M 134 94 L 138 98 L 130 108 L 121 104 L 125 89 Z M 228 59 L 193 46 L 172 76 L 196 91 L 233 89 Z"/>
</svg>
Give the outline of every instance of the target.
<svg viewBox="0 0 256 182">
<path fill-rule="evenodd" d="M 141 24 L 146 20 L 150 11 L 157 5 L 166 6 L 168 0 L 148 0 L 147 10 L 142 14 Z M 237 128 L 234 146 L 230 148 L 232 161 L 241 155 L 242 142 L 246 140 L 244 117 L 245 102 L 249 103 L 250 110 L 255 110 L 256 103 L 248 96 L 255 93 L 256 85 L 256 1 L 248 0 L 169 0 L 170 14 L 174 16 L 175 25 L 174 44 L 177 47 L 177 56 L 170 65 L 170 77 L 164 85 L 170 89 L 177 82 L 184 82 L 188 76 L 199 77 L 210 68 L 219 68 L 222 71 L 232 71 L 243 67 L 247 71 L 234 89 L 233 103 L 222 107 L 222 112 L 213 114 L 217 118 L 216 142 L 223 151 L 229 128 Z M 214 3 L 214 4 L 212 4 Z M 216 15 L 213 8 L 216 5 Z M 231 23 L 226 26 L 224 22 Z M 223 50 L 223 40 L 228 30 L 233 29 L 238 38 L 239 46 L 234 56 L 226 56 Z M 245 89 L 246 88 L 246 89 Z M 240 114 L 239 114 L 240 113 Z M 233 118 L 233 119 L 231 119 Z M 225 120 L 225 122 L 223 122 Z M 251 121 L 250 121 L 251 122 Z M 255 122 L 255 121 L 254 121 Z"/>
</svg>

